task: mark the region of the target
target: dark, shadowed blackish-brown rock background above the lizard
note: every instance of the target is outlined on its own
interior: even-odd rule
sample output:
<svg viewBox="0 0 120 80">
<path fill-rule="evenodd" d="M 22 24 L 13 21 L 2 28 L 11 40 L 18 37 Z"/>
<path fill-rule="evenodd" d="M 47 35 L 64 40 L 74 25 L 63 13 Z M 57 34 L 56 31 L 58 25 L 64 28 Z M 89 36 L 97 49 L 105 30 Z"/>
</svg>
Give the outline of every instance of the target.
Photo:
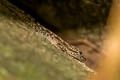
<svg viewBox="0 0 120 80">
<path fill-rule="evenodd" d="M 50 29 L 103 27 L 112 0 L 9 0 Z M 50 26 L 51 25 L 51 26 Z M 97 25 L 97 26 L 96 26 Z"/>
</svg>

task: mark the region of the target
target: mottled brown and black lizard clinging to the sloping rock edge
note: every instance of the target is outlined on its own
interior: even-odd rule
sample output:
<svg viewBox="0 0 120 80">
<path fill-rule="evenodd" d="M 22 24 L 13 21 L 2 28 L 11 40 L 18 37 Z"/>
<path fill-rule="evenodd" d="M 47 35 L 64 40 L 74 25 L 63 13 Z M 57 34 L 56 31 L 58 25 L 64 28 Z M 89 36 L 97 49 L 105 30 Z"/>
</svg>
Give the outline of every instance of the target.
<svg viewBox="0 0 120 80">
<path fill-rule="evenodd" d="M 86 58 L 83 56 L 82 51 L 67 43 L 62 38 L 57 36 L 55 33 L 45 28 L 43 25 L 38 22 L 30 25 L 36 32 L 40 33 L 43 37 L 45 37 L 52 45 L 56 48 L 60 49 L 62 52 L 65 52 L 67 55 L 78 61 L 86 61 Z"/>
</svg>

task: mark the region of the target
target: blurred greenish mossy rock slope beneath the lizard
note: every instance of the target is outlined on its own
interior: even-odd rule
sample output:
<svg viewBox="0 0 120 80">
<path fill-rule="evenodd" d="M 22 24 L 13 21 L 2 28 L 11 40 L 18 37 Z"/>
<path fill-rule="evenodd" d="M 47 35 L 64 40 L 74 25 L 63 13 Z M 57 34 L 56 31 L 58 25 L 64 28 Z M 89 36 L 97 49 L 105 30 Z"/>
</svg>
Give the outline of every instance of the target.
<svg viewBox="0 0 120 80">
<path fill-rule="evenodd" d="M 28 15 L 10 8 L 0 1 L 0 80 L 85 80 L 91 71 L 84 64 L 28 28 Z"/>
</svg>

